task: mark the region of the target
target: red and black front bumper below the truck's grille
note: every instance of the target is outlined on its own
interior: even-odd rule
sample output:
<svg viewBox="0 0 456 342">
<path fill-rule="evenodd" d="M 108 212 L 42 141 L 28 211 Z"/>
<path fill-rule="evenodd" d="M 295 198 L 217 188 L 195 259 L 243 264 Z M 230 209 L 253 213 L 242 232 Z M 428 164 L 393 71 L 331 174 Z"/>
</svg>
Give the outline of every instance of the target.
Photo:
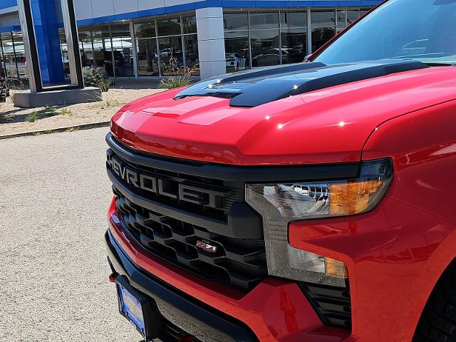
<svg viewBox="0 0 456 342">
<path fill-rule="evenodd" d="M 142 249 L 118 224 L 115 207 L 109 222 L 106 244 L 113 271 L 200 341 L 347 341 L 348 331 L 323 326 L 297 284 L 268 278 L 245 294 L 199 279 Z"/>
</svg>

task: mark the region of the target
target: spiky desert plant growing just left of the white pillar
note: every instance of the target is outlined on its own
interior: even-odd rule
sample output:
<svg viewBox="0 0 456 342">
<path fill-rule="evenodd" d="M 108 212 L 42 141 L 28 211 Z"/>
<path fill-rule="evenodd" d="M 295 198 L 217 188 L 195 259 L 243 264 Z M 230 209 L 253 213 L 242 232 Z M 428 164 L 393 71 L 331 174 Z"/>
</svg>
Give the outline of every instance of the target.
<svg viewBox="0 0 456 342">
<path fill-rule="evenodd" d="M 177 58 L 171 57 L 168 63 L 162 63 L 162 74 L 165 75 L 160 80 L 161 88 L 180 88 L 192 84 L 192 76 L 197 75 L 199 65 L 192 67 L 181 67 Z"/>
</svg>

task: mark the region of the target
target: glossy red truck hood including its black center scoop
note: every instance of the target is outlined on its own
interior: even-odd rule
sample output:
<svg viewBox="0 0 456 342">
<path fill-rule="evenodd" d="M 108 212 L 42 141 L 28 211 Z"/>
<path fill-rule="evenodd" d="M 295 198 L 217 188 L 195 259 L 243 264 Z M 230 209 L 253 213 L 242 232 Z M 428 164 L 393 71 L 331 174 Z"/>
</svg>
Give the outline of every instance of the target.
<svg viewBox="0 0 456 342">
<path fill-rule="evenodd" d="M 212 78 L 135 100 L 113 117 L 111 130 L 137 150 L 188 160 L 358 162 L 378 125 L 454 100 L 455 89 L 451 66 L 303 63 Z"/>
</svg>

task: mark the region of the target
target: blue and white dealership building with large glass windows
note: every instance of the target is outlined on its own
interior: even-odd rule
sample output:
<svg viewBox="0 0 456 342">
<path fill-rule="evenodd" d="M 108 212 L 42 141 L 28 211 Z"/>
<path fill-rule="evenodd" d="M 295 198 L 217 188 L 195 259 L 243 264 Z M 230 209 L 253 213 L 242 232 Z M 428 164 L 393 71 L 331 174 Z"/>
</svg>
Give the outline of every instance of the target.
<svg viewBox="0 0 456 342">
<path fill-rule="evenodd" d="M 380 0 L 73 0 L 83 66 L 112 77 L 185 70 L 201 78 L 297 63 Z M 63 24 L 53 0 L 33 0 L 43 81 L 68 76 Z M 0 1 L 0 71 L 26 78 L 16 0 Z"/>
</svg>

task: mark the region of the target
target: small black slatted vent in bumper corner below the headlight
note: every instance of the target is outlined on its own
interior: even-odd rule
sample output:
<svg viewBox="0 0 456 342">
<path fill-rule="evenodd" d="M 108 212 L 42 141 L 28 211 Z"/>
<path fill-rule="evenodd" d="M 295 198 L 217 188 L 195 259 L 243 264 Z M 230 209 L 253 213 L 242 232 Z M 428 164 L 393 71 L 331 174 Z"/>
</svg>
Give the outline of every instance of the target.
<svg viewBox="0 0 456 342">
<path fill-rule="evenodd" d="M 300 284 L 323 323 L 351 329 L 350 289 L 320 284 Z"/>
</svg>

